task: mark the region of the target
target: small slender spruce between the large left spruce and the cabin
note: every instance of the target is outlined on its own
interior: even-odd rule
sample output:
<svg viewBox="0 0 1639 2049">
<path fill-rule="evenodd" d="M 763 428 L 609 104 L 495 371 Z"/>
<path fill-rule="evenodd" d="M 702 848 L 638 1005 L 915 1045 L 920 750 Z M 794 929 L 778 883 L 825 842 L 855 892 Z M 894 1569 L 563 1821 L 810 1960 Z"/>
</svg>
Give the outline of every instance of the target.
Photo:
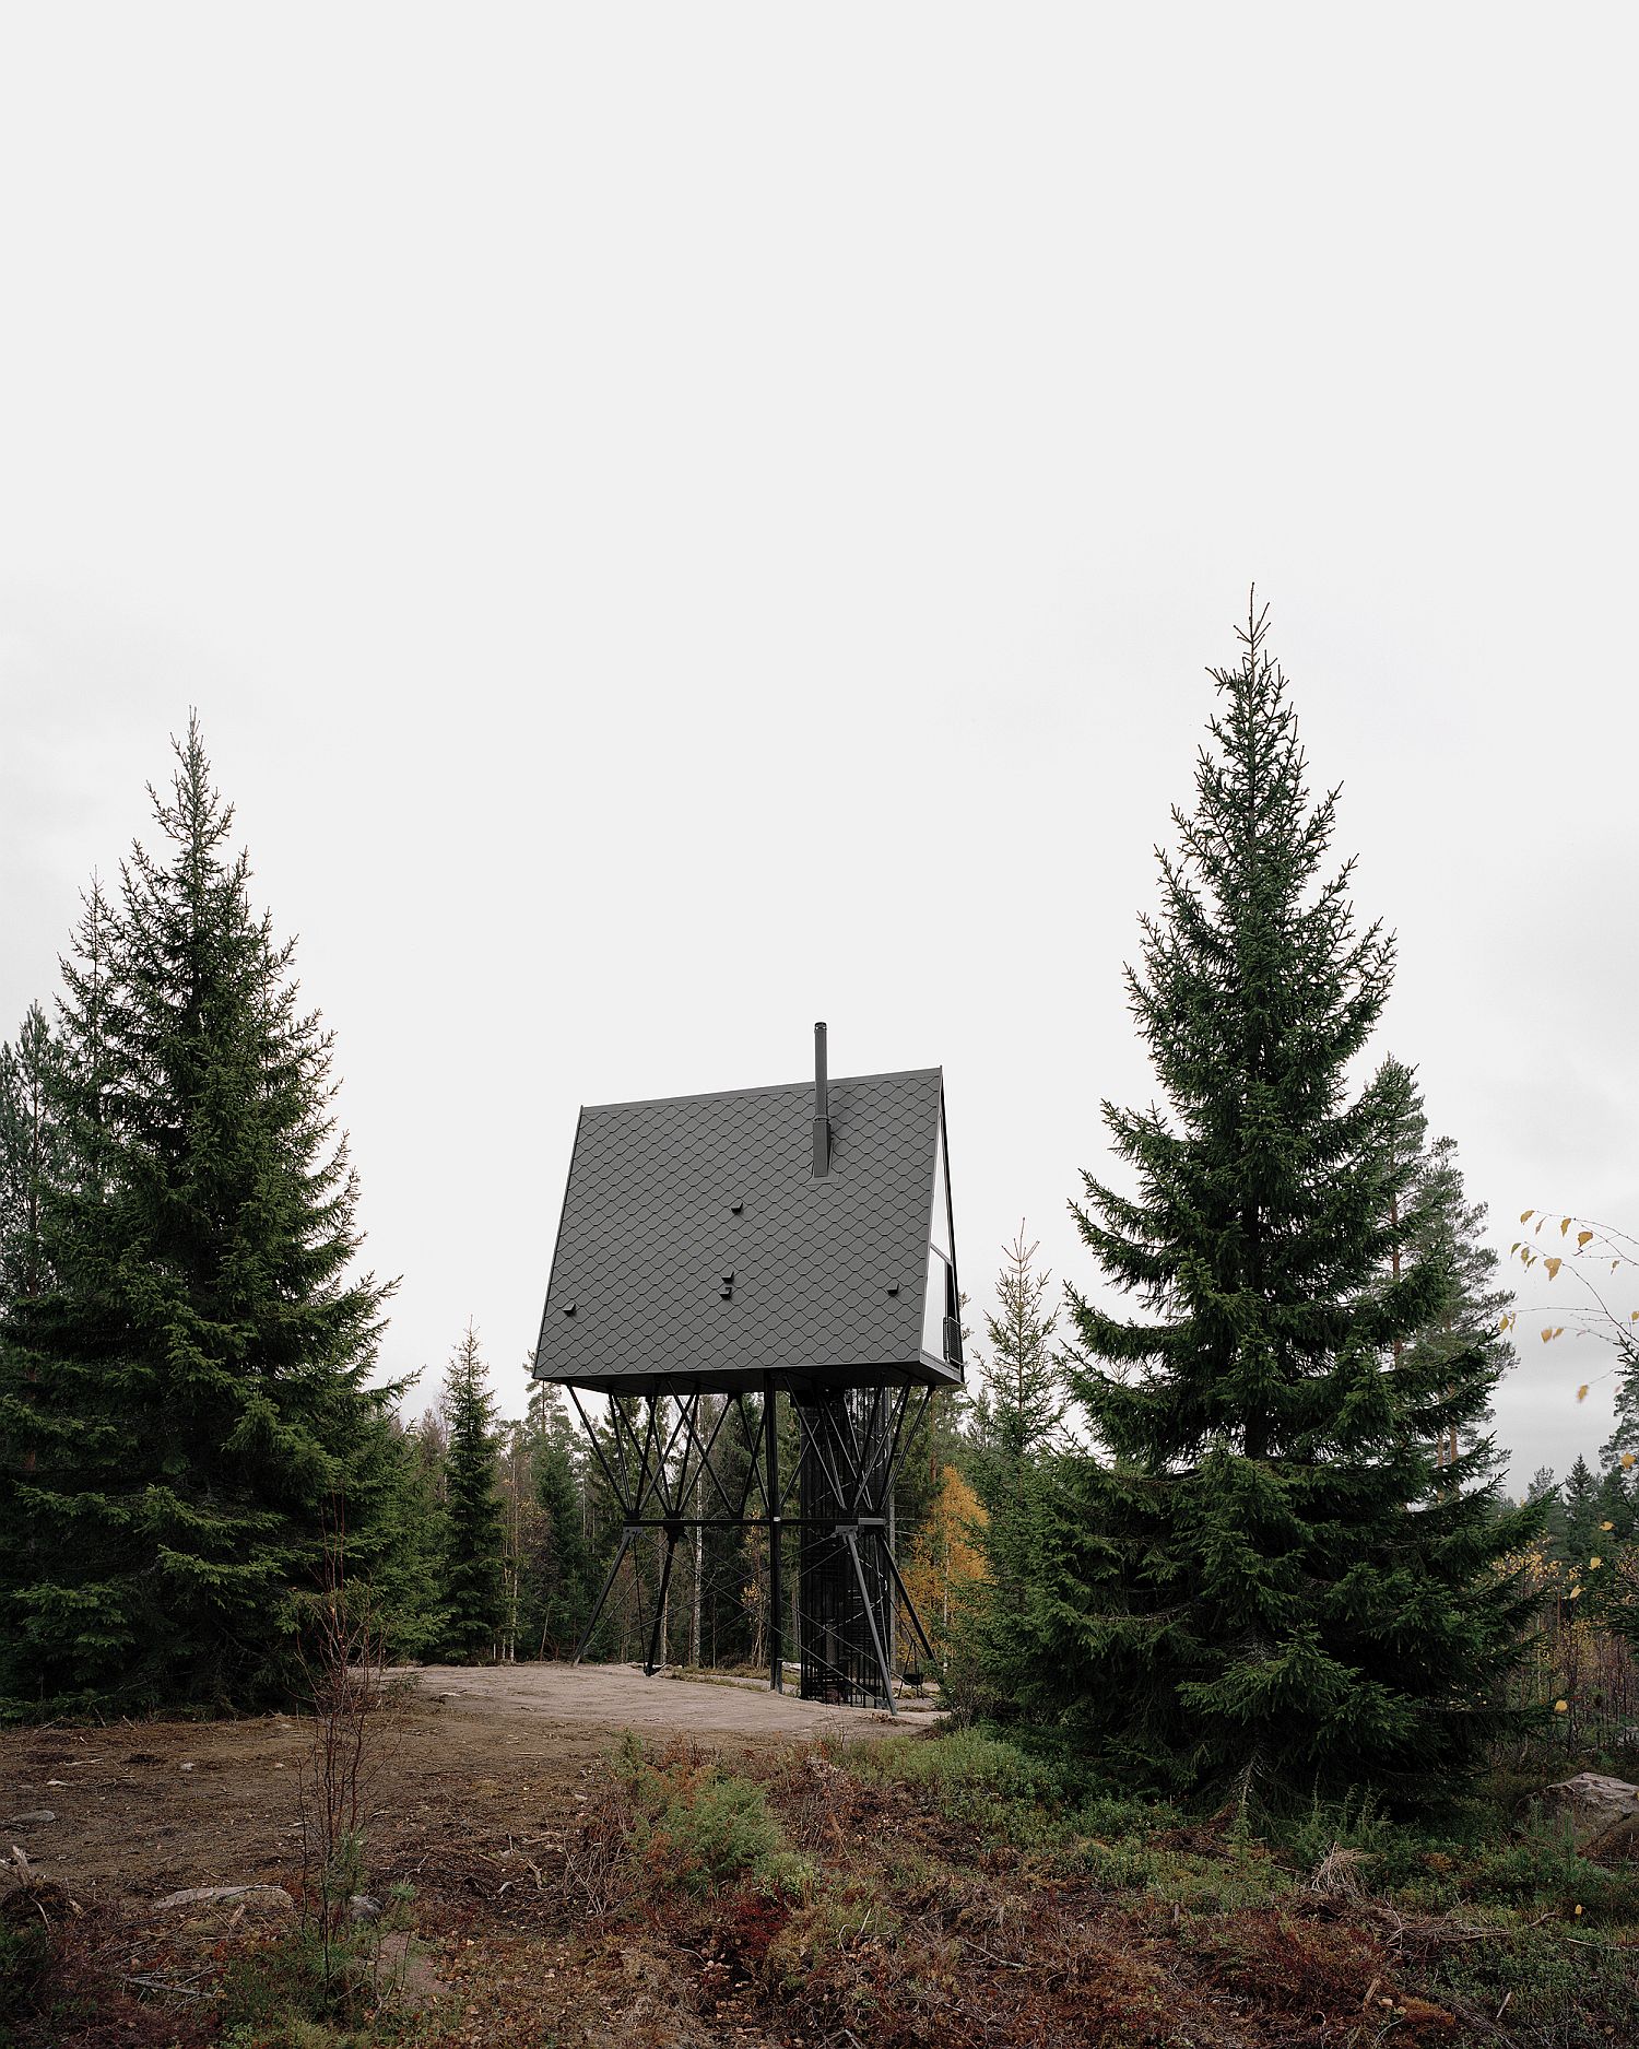
<svg viewBox="0 0 1639 2049">
<path fill-rule="evenodd" d="M 506 1514 L 496 1473 L 496 1397 L 467 1324 L 445 1373 L 445 1656 L 481 1664 L 496 1656 L 506 1613 Z"/>
</svg>

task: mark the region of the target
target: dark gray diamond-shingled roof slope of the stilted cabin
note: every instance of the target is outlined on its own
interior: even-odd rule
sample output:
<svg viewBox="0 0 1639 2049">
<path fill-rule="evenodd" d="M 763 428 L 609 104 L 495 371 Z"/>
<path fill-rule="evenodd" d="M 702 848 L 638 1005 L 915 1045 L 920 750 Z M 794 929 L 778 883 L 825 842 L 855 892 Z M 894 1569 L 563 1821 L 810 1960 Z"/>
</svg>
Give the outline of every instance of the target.
<svg viewBox="0 0 1639 2049">
<path fill-rule="evenodd" d="M 828 1109 L 815 1180 L 811 1082 L 588 1104 L 535 1377 L 627 1393 L 764 1373 L 957 1381 L 922 1354 L 940 1070 L 838 1078 Z"/>
</svg>

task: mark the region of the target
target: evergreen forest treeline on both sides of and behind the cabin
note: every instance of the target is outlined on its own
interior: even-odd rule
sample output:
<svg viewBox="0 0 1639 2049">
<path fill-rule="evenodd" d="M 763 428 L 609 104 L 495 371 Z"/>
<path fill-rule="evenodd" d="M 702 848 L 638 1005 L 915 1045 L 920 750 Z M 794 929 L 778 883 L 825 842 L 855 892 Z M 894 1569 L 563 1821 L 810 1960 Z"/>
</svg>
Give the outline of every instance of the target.
<svg viewBox="0 0 1639 2049">
<path fill-rule="evenodd" d="M 1180 1797 L 1416 1803 L 1555 1715 L 1639 1713 L 1639 1371 L 1619 1330 L 1598 1473 L 1506 1498 L 1510 1293 L 1414 1065 L 1371 1051 L 1393 938 L 1262 615 L 1213 680 L 1127 971 L 1158 1100 L 1102 1106 L 1123 1184 L 1082 1176 L 1061 1307 L 1006 1250 L 899 1551 L 971 1713 Z M 436 1402 L 373 1385 L 391 1285 L 359 1270 L 332 1041 L 197 723 L 154 816 L 0 1055 L 0 1695 L 289 1699 L 338 1559 L 397 1656 L 565 1656 L 621 1533 L 600 1461 L 551 1389 L 498 1418 L 471 1328 Z M 668 1662 L 762 1662 L 760 1541 L 688 1535 Z M 592 1656 L 641 1654 L 652 1574 Z"/>
</svg>

